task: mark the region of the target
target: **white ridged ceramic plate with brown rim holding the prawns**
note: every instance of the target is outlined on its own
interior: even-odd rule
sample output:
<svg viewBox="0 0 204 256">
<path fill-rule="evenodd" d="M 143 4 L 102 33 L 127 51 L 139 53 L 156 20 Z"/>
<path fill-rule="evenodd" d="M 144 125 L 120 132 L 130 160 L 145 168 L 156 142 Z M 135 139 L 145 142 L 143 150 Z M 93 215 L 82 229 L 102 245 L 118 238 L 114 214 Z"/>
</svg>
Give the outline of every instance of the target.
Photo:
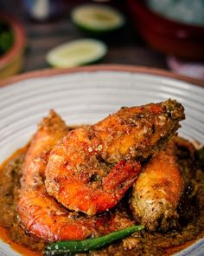
<svg viewBox="0 0 204 256">
<path fill-rule="evenodd" d="M 191 81 L 191 82 L 190 82 Z M 202 83 L 204 86 L 204 83 Z M 0 162 L 35 133 L 54 108 L 67 124 L 99 121 L 122 106 L 174 98 L 186 108 L 179 134 L 204 143 L 204 87 L 179 75 L 131 66 L 92 66 L 45 70 L 11 78 L 0 88 Z M 204 240 L 176 255 L 201 256 Z M 18 255 L 0 241 L 0 255 Z"/>
</svg>

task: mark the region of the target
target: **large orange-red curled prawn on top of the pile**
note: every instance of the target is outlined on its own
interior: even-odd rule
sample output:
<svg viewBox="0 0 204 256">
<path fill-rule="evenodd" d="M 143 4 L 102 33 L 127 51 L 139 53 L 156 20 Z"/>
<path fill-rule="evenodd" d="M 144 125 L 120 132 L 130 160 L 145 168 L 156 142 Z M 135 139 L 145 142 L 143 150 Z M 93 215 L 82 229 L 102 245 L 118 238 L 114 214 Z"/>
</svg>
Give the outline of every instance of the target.
<svg viewBox="0 0 204 256">
<path fill-rule="evenodd" d="M 46 188 L 64 207 L 94 215 L 116 206 L 137 179 L 140 162 L 180 127 L 182 104 L 168 100 L 121 108 L 69 132 L 51 151 Z"/>
</svg>

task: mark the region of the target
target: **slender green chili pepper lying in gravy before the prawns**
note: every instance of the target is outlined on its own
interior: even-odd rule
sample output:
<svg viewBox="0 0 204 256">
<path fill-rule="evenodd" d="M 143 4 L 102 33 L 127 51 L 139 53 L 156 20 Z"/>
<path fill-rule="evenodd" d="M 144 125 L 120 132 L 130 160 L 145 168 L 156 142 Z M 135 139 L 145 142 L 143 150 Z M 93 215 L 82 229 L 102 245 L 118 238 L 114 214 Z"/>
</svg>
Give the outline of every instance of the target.
<svg viewBox="0 0 204 256">
<path fill-rule="evenodd" d="M 68 253 L 85 253 L 121 240 L 131 233 L 142 230 L 144 226 L 131 226 L 105 236 L 87 240 L 69 240 L 49 244 L 45 248 L 46 255 L 68 255 Z"/>
</svg>

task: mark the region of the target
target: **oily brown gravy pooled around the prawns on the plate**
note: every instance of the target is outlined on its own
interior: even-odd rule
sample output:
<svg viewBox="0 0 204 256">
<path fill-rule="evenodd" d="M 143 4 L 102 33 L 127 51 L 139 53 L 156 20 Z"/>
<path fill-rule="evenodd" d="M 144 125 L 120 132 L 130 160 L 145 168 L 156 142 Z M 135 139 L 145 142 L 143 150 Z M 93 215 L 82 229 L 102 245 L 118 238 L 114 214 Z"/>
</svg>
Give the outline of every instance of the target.
<svg viewBox="0 0 204 256">
<path fill-rule="evenodd" d="M 22 255 L 36 256 L 43 254 L 46 243 L 30 233 L 25 233 L 16 213 L 22 162 L 27 150 L 28 146 L 17 150 L 0 168 L 0 238 Z M 179 231 L 169 233 L 141 231 L 99 251 L 78 255 L 170 255 L 202 238 L 204 236 L 204 172 L 199 167 L 195 167 L 194 172 L 194 180 L 191 183 L 195 187 L 196 196 L 192 194 L 194 192 L 191 191 L 191 187 L 186 192 L 192 194 L 191 205 L 186 206 L 188 212 L 191 212 L 191 217 L 188 220 L 185 218 L 181 220 L 182 226 Z M 116 208 L 116 211 L 120 211 L 120 215 L 123 214 L 125 207 L 128 208 L 127 201 L 128 194 L 121 202 L 122 207 Z M 183 207 L 180 211 L 181 216 L 185 216 L 185 213 L 182 214 L 182 211 L 185 212 Z M 130 214 L 131 222 L 131 213 L 129 210 L 125 214 L 127 213 Z"/>
</svg>

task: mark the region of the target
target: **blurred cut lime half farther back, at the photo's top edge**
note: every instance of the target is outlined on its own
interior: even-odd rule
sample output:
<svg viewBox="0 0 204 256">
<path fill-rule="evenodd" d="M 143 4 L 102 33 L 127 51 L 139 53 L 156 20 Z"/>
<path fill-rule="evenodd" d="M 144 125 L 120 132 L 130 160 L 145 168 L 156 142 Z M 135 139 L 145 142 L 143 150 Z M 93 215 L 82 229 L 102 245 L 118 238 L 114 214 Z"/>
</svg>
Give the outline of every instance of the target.
<svg viewBox="0 0 204 256">
<path fill-rule="evenodd" d="M 101 4 L 84 4 L 76 7 L 71 18 L 73 23 L 90 32 L 109 32 L 124 25 L 124 16 L 112 7 Z"/>
</svg>

